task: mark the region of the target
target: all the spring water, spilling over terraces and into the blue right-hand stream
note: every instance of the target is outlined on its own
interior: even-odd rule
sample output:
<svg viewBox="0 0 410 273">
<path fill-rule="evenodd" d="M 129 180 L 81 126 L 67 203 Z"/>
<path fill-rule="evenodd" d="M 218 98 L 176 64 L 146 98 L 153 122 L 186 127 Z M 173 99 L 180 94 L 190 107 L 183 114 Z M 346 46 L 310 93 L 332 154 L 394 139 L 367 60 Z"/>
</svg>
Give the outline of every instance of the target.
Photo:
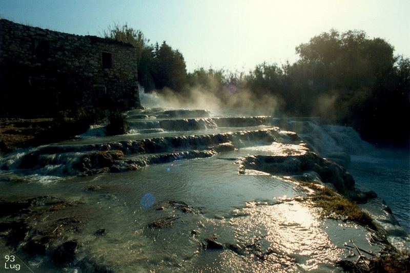
<svg viewBox="0 0 410 273">
<path fill-rule="evenodd" d="M 301 201 L 309 190 L 296 176 L 239 172 L 251 155 L 311 149 L 345 164 L 356 186 L 376 191 L 408 231 L 408 154 L 375 154 L 352 129 L 234 111 L 153 107 L 127 116 L 129 134 L 106 136 L 96 125 L 75 140 L 0 159 L 0 198 L 28 204 L 0 215 L 30 227 L 10 242 L 0 224 L 2 254 L 18 255 L 23 271 L 340 271 L 335 263 L 350 259 L 351 239 L 381 249 L 366 228 L 323 219 Z M 50 234 L 45 254 L 27 250 Z M 58 264 L 51 249 L 68 240 L 79 242 L 75 257 Z"/>
</svg>

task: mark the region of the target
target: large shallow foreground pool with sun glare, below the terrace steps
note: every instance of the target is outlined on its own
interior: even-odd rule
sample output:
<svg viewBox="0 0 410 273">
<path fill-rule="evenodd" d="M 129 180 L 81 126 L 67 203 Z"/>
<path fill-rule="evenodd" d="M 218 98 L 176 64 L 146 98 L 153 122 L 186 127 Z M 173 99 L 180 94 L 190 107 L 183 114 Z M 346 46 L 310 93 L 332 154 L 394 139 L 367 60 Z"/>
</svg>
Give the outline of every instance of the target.
<svg viewBox="0 0 410 273">
<path fill-rule="evenodd" d="M 269 146 L 256 150 L 268 152 Z M 264 173 L 238 175 L 235 161 L 224 159 L 249 152 L 255 151 L 244 149 L 212 158 L 57 182 L 3 182 L 0 198 L 52 195 L 82 203 L 76 214 L 87 219 L 87 224 L 79 234 L 72 235 L 72 239 L 83 243 L 78 259 L 92 257 L 119 272 L 177 269 L 288 272 L 334 268 L 334 262 L 345 254 L 343 243 L 352 234 L 344 238 L 336 231 L 338 223 L 324 221 L 318 213 L 294 201 L 293 197 L 304 196 L 305 191 L 293 182 Z M 85 191 L 90 184 L 98 184 L 104 190 Z M 152 206 L 141 202 L 147 194 L 155 198 Z M 200 211 L 180 212 L 168 206 L 172 200 L 198 207 Z M 147 226 L 168 216 L 176 218 L 171 227 Z M 99 228 L 105 228 L 107 235 L 95 237 Z M 361 235 L 365 247 L 378 249 L 367 243 L 362 228 L 354 225 L 346 228 Z M 227 249 L 202 250 L 203 239 L 212 236 Z M 230 245 L 248 245 L 250 249 L 238 255 L 229 249 Z M 272 249 L 275 251 L 270 253 Z M 255 258 L 263 253 L 269 254 L 264 261 Z M 28 266 L 36 272 L 55 270 L 48 259 L 20 258 L 27 259 Z"/>
</svg>

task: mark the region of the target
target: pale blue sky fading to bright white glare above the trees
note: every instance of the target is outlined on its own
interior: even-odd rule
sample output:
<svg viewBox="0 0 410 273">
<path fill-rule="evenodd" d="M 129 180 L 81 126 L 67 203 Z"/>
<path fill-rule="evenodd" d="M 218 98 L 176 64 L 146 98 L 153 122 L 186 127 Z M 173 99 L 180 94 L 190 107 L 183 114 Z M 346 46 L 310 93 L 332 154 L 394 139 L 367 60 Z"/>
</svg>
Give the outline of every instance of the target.
<svg viewBox="0 0 410 273">
<path fill-rule="evenodd" d="M 293 62 L 296 46 L 331 28 L 364 30 L 409 57 L 409 11 L 409 0 L 0 0 L 1 17 L 61 32 L 99 35 L 127 22 L 151 43 L 178 49 L 188 71 Z"/>
</svg>

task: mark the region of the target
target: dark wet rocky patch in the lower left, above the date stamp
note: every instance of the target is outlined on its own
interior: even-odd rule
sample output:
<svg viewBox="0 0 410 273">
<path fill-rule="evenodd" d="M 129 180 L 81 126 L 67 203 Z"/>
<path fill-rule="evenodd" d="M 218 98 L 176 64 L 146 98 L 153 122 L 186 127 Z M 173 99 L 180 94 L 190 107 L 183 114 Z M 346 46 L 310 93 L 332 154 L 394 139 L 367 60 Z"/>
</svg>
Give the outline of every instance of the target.
<svg viewBox="0 0 410 273">
<path fill-rule="evenodd" d="M 79 247 L 75 236 L 84 226 L 76 209 L 81 203 L 70 203 L 52 196 L 40 196 L 21 201 L 2 201 L 0 238 L 6 245 L 27 255 L 43 255 L 56 264 L 74 260 Z M 71 208 L 71 211 L 70 209 Z M 71 215 L 71 216 L 70 216 Z"/>
</svg>

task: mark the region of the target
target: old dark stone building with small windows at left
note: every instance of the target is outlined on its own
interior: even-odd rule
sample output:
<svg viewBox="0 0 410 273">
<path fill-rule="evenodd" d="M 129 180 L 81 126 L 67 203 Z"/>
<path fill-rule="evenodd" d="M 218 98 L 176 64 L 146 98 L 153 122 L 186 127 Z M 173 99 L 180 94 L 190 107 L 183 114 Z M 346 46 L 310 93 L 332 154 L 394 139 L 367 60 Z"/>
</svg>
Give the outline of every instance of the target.
<svg viewBox="0 0 410 273">
<path fill-rule="evenodd" d="M 139 107 L 136 52 L 116 40 L 0 19 L 0 112 Z"/>
</svg>

